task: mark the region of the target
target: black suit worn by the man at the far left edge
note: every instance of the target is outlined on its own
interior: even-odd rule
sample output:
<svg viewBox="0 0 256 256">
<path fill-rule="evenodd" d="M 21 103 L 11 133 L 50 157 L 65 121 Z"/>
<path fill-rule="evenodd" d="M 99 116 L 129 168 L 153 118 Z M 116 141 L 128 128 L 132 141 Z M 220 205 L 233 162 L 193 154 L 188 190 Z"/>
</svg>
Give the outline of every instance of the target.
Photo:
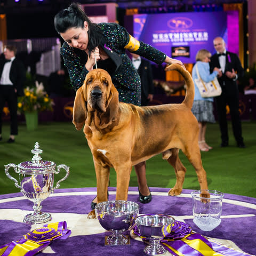
<svg viewBox="0 0 256 256">
<path fill-rule="evenodd" d="M 5 62 L 5 59 L 0 60 L 0 77 L 2 76 Z M 5 102 L 7 102 L 11 117 L 10 134 L 16 135 L 18 134 L 17 97 L 24 95 L 23 83 L 26 79 L 25 67 L 23 63 L 16 58 L 12 61 L 9 78 L 13 85 L 0 85 L 0 134 L 2 133 L 3 108 Z M 17 92 L 15 92 L 15 89 Z"/>
</svg>

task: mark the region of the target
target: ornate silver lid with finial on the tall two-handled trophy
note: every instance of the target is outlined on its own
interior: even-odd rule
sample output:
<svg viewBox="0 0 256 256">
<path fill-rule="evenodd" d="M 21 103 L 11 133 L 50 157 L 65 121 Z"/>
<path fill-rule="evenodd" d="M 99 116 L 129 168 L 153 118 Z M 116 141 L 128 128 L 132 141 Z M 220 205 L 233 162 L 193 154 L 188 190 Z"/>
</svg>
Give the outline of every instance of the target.
<svg viewBox="0 0 256 256">
<path fill-rule="evenodd" d="M 35 154 L 32 161 L 26 161 L 18 164 L 17 173 L 45 174 L 55 171 L 56 164 L 54 162 L 42 161 L 42 157 L 39 154 L 42 154 L 43 150 L 39 149 L 38 142 L 35 143 L 35 148 L 31 150 L 31 153 Z"/>
</svg>

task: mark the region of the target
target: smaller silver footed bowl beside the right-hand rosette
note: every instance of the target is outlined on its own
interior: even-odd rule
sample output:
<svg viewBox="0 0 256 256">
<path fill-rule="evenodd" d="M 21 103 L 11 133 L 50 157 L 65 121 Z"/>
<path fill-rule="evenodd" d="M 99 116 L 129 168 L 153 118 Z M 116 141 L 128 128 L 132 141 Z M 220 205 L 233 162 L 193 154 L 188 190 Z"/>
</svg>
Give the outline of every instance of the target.
<svg viewBox="0 0 256 256">
<path fill-rule="evenodd" d="M 167 214 L 142 214 L 135 223 L 140 236 L 149 239 L 149 245 L 143 250 L 148 255 L 164 254 L 166 249 L 160 244 L 163 238 L 162 228 L 174 222 L 174 218 Z"/>
</svg>

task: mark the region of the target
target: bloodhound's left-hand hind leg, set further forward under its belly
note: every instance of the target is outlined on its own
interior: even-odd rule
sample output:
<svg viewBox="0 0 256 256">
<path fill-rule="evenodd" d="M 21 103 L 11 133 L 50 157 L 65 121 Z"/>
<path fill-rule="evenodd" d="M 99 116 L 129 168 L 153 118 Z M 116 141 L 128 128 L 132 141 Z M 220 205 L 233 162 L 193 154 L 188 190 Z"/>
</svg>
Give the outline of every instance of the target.
<svg viewBox="0 0 256 256">
<path fill-rule="evenodd" d="M 182 191 L 186 168 L 180 161 L 178 148 L 172 148 L 167 151 L 167 153 L 166 151 L 163 152 L 163 158 L 166 159 L 166 156 L 169 156 L 169 158 L 167 158 L 167 161 L 173 166 L 176 175 L 176 183 L 174 187 L 169 190 L 168 195 L 178 196 L 181 194 Z"/>
</svg>

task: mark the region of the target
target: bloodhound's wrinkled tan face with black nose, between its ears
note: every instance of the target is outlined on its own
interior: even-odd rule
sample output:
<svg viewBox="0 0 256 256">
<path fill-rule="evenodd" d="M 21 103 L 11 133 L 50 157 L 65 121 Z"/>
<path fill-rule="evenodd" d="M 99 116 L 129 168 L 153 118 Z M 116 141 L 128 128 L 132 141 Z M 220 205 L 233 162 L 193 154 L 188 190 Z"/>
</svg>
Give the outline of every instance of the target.
<svg viewBox="0 0 256 256">
<path fill-rule="evenodd" d="M 90 110 L 105 112 L 112 84 L 110 75 L 103 69 L 94 69 L 87 74 L 85 84 Z"/>
</svg>

